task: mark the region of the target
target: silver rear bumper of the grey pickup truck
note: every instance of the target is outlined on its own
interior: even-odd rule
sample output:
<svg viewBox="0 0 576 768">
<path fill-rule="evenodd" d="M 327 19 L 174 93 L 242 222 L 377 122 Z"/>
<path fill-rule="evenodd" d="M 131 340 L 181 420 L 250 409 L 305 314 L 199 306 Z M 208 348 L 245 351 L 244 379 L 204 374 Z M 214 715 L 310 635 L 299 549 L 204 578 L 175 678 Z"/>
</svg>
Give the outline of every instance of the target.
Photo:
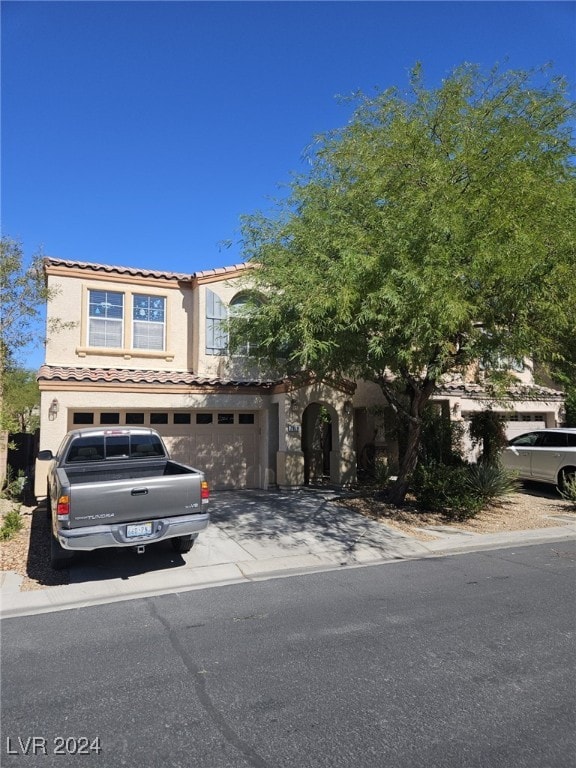
<svg viewBox="0 0 576 768">
<path fill-rule="evenodd" d="M 134 547 L 143 544 L 154 544 L 163 539 L 173 539 L 175 536 L 193 536 L 208 527 L 210 516 L 182 515 L 181 517 L 166 517 L 159 520 L 134 521 L 130 523 L 116 523 L 113 525 L 91 525 L 85 528 L 73 528 L 58 530 L 58 541 L 64 549 L 92 550 L 104 547 Z M 127 536 L 129 525 L 151 522 L 152 533 L 147 536 Z"/>
</svg>

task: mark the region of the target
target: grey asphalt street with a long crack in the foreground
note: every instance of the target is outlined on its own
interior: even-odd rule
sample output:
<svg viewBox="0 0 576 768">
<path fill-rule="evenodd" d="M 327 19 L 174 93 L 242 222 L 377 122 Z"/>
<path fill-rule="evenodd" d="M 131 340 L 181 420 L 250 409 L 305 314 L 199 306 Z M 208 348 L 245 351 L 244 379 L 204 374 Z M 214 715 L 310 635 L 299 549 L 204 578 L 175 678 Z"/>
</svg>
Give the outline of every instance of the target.
<svg viewBox="0 0 576 768">
<path fill-rule="evenodd" d="M 2 766 L 573 768 L 575 565 L 547 543 L 5 619 Z"/>
</svg>

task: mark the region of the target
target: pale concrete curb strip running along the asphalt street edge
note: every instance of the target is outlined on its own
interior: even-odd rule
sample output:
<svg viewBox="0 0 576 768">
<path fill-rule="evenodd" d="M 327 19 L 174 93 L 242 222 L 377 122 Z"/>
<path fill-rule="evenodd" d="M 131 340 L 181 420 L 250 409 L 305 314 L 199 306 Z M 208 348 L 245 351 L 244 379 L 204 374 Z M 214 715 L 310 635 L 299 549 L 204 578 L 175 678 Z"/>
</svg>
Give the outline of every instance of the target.
<svg viewBox="0 0 576 768">
<path fill-rule="evenodd" d="M 449 534 L 436 541 L 416 541 L 400 537 L 394 547 L 381 555 L 374 551 L 359 551 L 346 556 L 342 551 L 294 554 L 267 559 L 242 559 L 236 562 L 206 564 L 158 572 L 151 571 L 127 579 L 87 581 L 46 589 L 20 592 L 21 576 L 5 572 L 1 580 L 0 617 L 3 619 L 37 613 L 84 608 L 102 603 L 133 600 L 163 594 L 187 592 L 214 586 L 248 583 L 306 573 L 358 568 L 407 560 L 529 546 L 576 539 L 576 524 L 513 531 L 497 534 Z"/>
</svg>

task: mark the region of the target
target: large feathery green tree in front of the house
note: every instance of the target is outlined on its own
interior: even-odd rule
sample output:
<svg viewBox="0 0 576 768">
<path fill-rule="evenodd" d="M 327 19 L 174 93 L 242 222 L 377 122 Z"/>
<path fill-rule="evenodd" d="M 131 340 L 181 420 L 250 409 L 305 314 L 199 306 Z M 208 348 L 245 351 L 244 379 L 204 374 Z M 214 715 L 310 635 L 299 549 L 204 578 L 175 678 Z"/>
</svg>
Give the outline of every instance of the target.
<svg viewBox="0 0 576 768">
<path fill-rule="evenodd" d="M 272 214 L 243 220 L 266 294 L 232 321 L 288 369 L 377 382 L 404 418 L 392 500 L 441 377 L 479 358 L 550 359 L 574 314 L 568 86 L 549 70 L 456 68 L 437 88 L 356 95 Z"/>
</svg>

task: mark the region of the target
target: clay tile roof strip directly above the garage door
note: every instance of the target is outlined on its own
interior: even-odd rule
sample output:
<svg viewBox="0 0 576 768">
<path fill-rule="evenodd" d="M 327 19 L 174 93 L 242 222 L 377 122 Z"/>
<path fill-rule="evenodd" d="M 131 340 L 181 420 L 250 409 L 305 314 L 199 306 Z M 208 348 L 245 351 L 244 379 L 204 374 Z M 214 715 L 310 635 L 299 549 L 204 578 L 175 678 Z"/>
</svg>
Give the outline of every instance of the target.
<svg viewBox="0 0 576 768">
<path fill-rule="evenodd" d="M 149 371 L 129 368 L 72 368 L 43 365 L 38 381 L 111 382 L 117 384 L 184 384 L 205 387 L 272 387 L 269 380 L 239 381 L 209 376 L 196 376 L 188 371 Z"/>
</svg>

